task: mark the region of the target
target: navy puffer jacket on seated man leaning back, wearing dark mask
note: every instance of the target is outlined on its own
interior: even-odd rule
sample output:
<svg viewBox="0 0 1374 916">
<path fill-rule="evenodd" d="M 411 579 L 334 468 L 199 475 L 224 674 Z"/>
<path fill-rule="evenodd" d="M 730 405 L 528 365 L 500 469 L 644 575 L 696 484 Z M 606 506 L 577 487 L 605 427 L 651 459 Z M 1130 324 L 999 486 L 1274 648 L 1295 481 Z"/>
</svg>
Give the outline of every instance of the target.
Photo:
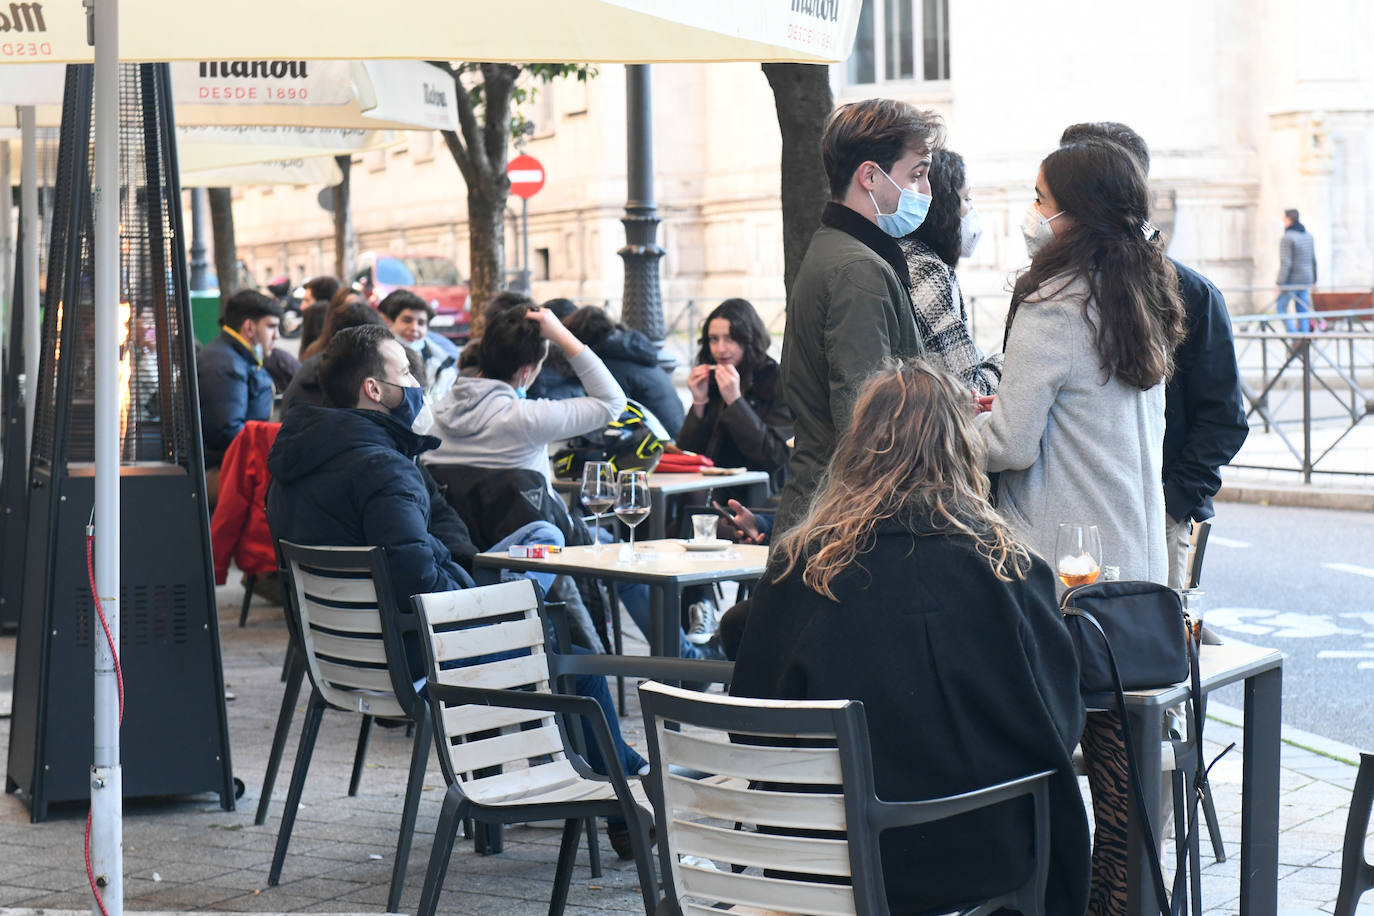
<svg viewBox="0 0 1374 916">
<path fill-rule="evenodd" d="M 463 522 L 444 500 L 430 499 L 415 464 L 416 455 L 436 445 L 438 439 L 416 435 L 390 413 L 297 404 L 267 456 L 272 537 L 383 548 L 396 606 L 407 611 L 412 595 L 471 586 L 453 560 Z M 420 674 L 418 650 L 407 645 L 411 670 Z"/>
</svg>

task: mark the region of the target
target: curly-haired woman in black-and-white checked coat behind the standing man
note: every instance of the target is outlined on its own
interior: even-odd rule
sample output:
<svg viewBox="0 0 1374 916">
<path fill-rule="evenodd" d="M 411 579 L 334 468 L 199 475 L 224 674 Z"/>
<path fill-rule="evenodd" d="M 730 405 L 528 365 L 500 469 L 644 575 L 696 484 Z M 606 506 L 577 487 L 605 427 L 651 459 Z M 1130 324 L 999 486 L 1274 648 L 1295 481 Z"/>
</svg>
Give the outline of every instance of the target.
<svg viewBox="0 0 1374 916">
<path fill-rule="evenodd" d="M 978 394 L 992 394 L 1002 379 L 1002 354 L 985 357 L 973 342 L 955 273 L 959 260 L 973 254 L 981 235 L 963 157 L 936 150 L 930 163 L 930 210 L 925 222 L 897 243 L 911 275 L 911 305 L 926 346 L 925 358 Z"/>
</svg>

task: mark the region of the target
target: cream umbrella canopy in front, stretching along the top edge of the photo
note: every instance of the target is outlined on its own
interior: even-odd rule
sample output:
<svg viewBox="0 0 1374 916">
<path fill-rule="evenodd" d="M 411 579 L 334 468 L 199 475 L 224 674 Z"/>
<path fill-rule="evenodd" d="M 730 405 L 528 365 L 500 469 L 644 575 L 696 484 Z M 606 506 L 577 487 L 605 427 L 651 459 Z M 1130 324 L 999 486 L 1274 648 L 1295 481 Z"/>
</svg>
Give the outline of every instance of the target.
<svg viewBox="0 0 1374 916">
<path fill-rule="evenodd" d="M 124 60 L 829 63 L 849 54 L 859 7 L 859 0 L 407 0 L 385 7 L 376 0 L 122 0 L 117 41 Z M 5 54 L 92 59 L 82 4 L 11 10 L 5 43 L 15 49 Z"/>
</svg>

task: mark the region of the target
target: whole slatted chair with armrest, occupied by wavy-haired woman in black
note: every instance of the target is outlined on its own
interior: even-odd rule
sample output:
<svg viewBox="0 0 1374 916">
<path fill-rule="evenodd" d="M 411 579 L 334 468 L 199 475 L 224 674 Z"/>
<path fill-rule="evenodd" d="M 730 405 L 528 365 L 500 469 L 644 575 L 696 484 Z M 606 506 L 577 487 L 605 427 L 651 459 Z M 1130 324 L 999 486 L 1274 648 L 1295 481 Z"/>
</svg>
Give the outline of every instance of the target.
<svg viewBox="0 0 1374 916">
<path fill-rule="evenodd" d="M 639 698 L 664 875 L 658 913 L 710 916 L 719 904 L 886 913 L 882 831 L 1021 797 L 1033 802 L 1035 868 L 1021 887 L 965 912 L 1044 912 L 1050 770 L 951 798 L 885 802 L 874 788 L 863 703 L 752 700 L 653 683 L 640 684 Z"/>
</svg>

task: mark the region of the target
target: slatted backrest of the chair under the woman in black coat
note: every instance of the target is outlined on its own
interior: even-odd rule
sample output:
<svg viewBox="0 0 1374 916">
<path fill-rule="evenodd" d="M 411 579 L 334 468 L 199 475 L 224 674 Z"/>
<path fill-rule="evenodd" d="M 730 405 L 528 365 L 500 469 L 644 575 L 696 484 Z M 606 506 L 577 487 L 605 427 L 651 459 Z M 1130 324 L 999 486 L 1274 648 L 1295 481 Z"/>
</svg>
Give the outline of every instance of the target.
<svg viewBox="0 0 1374 916">
<path fill-rule="evenodd" d="M 708 916 L 720 912 L 716 904 L 818 916 L 874 912 L 856 890 L 877 882 L 882 900 L 882 876 L 863 862 L 855 873 L 845 839 L 855 817 L 845 788 L 849 777 L 860 787 L 867 779 L 846 772 L 845 761 L 855 740 L 867 744 L 861 703 L 741 700 L 653 683 L 639 694 L 658 787 L 651 794 L 664 890 L 682 913 Z M 669 764 L 706 777 L 671 772 Z M 684 864 L 683 856 L 716 868 Z"/>
</svg>

